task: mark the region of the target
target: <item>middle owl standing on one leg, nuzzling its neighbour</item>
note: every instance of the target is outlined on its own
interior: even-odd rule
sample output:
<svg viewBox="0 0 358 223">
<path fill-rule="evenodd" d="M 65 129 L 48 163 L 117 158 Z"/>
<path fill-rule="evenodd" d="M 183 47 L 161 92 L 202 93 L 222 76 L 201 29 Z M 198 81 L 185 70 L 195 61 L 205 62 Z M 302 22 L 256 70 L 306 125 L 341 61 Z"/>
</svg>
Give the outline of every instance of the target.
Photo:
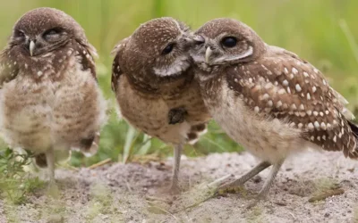
<svg viewBox="0 0 358 223">
<path fill-rule="evenodd" d="M 200 42 L 182 22 L 160 18 L 114 50 L 112 88 L 120 111 L 133 127 L 175 146 L 175 190 L 183 145 L 196 142 L 209 120 L 188 52 Z"/>
</svg>

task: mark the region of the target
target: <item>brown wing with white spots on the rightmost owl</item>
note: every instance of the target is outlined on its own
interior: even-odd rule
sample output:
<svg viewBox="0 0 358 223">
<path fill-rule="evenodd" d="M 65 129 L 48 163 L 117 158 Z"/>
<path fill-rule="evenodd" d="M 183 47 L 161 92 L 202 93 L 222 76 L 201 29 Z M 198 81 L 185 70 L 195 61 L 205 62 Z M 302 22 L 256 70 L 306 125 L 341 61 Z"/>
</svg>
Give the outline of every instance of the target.
<svg viewBox="0 0 358 223">
<path fill-rule="evenodd" d="M 319 70 L 286 51 L 226 69 L 227 83 L 252 111 L 302 128 L 303 138 L 358 158 L 345 104 Z M 349 118 L 349 117 L 347 117 Z"/>
</svg>

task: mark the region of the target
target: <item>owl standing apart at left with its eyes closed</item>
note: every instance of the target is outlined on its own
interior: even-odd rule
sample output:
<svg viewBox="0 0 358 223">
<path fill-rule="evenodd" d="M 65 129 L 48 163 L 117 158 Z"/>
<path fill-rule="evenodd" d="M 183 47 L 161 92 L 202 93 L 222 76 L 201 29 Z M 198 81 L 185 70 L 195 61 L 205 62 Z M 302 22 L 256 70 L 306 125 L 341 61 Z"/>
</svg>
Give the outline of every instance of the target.
<svg viewBox="0 0 358 223">
<path fill-rule="evenodd" d="M 38 8 L 24 14 L 0 54 L 0 128 L 13 148 L 35 153 L 55 175 L 55 153 L 98 149 L 106 102 L 98 87 L 90 45 L 64 12 Z"/>
</svg>

